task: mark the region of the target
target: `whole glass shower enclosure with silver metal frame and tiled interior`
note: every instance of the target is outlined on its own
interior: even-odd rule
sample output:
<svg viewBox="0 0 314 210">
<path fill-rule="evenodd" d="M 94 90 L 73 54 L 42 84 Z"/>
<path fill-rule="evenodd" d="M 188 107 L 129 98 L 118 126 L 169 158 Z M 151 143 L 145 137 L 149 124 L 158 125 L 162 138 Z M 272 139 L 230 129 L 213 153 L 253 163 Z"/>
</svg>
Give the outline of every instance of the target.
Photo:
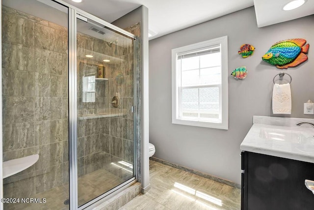
<svg viewBox="0 0 314 210">
<path fill-rule="evenodd" d="M 4 210 L 84 209 L 135 181 L 136 37 L 63 1 L 1 12 L 3 197 L 36 201 Z"/>
</svg>

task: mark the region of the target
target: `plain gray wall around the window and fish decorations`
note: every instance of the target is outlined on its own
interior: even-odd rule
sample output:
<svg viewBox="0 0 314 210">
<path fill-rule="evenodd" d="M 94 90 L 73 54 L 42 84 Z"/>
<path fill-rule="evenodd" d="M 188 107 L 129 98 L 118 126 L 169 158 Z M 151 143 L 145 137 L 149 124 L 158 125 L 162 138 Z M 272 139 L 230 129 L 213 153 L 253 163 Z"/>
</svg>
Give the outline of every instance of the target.
<svg viewBox="0 0 314 210">
<path fill-rule="evenodd" d="M 240 183 L 240 144 L 253 115 L 274 116 L 271 111 L 273 77 L 281 70 L 261 57 L 277 41 L 304 38 L 310 43 L 309 60 L 284 70 L 292 76 L 292 113 L 279 117 L 313 118 L 303 114 L 303 103 L 314 100 L 314 15 L 257 28 L 254 7 L 180 30 L 149 42 L 150 142 L 155 157 Z M 228 78 L 229 129 L 219 130 L 171 123 L 171 49 L 228 35 L 229 73 L 245 65 L 244 80 Z M 237 54 L 252 44 L 252 57 Z M 278 76 L 277 76 L 278 77 Z M 288 76 L 287 76 L 288 77 Z M 286 78 L 286 77 L 285 77 Z"/>
</svg>

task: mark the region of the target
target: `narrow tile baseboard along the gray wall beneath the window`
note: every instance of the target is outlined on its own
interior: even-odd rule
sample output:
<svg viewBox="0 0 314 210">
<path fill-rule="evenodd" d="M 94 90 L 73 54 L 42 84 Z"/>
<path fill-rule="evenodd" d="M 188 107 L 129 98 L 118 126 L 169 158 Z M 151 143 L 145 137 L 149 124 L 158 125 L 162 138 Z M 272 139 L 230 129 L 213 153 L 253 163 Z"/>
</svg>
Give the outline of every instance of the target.
<svg viewBox="0 0 314 210">
<path fill-rule="evenodd" d="M 190 168 L 187 168 L 187 167 L 178 165 L 178 164 L 174 164 L 174 163 L 168 162 L 168 161 L 166 161 L 166 160 L 159 159 L 159 158 L 157 158 L 157 157 L 153 157 L 153 156 L 152 156 L 152 157 L 150 157 L 149 159 L 150 159 L 150 160 L 153 160 L 153 161 L 156 161 L 156 162 L 158 162 L 158 163 L 162 163 L 162 164 L 167 165 L 167 166 L 171 166 L 171 167 L 173 167 L 173 168 L 177 168 L 177 169 L 180 169 L 180 170 L 189 172 L 189 173 L 191 173 L 191 174 L 198 175 L 198 176 L 200 176 L 200 177 L 207 178 L 207 179 L 209 179 L 209 180 L 214 180 L 214 181 L 217 181 L 217 182 L 220 182 L 220 183 L 223 183 L 223 184 L 227 184 L 227 185 L 229 185 L 229 186 L 236 187 L 236 188 L 238 188 L 238 189 L 241 188 L 241 185 L 236 184 L 235 182 L 230 181 L 230 180 L 225 180 L 225 179 L 222 179 L 222 178 L 219 178 L 219 177 L 215 177 L 215 176 L 213 176 L 213 175 L 206 174 L 206 173 L 204 173 L 204 172 L 197 171 L 197 170 L 194 170 L 194 169 L 190 169 Z"/>
</svg>

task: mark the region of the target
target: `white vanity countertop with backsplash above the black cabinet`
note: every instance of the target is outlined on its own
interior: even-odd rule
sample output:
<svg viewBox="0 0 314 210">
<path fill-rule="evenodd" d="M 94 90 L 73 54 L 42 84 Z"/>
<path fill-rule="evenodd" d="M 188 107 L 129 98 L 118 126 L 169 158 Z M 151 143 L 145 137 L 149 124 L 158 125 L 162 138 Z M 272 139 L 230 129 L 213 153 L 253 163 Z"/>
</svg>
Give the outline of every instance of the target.
<svg viewBox="0 0 314 210">
<path fill-rule="evenodd" d="M 307 125 L 295 125 L 295 122 L 298 121 L 313 122 L 312 119 L 266 117 L 267 120 L 265 121 L 261 120 L 261 118 L 263 117 L 254 117 L 254 124 L 245 136 L 243 142 L 241 143 L 241 150 L 314 163 L 314 128 L 308 127 Z M 259 118 L 259 120 L 257 120 L 257 117 Z M 271 121 L 275 121 L 276 125 L 274 125 Z M 280 123 L 280 121 L 283 121 L 283 123 Z M 277 131 L 279 133 L 281 131 L 284 133 L 286 132 L 286 134 L 288 133 L 288 136 L 290 134 L 290 137 L 293 136 L 293 138 L 295 138 L 295 136 L 297 135 L 302 135 L 302 138 L 295 141 L 286 141 L 274 137 L 266 138 L 265 135 L 263 135 L 264 130 L 266 130 L 270 134 L 272 131 L 274 131 L 274 133 L 276 133 Z M 293 138 L 291 137 L 291 139 Z"/>
</svg>

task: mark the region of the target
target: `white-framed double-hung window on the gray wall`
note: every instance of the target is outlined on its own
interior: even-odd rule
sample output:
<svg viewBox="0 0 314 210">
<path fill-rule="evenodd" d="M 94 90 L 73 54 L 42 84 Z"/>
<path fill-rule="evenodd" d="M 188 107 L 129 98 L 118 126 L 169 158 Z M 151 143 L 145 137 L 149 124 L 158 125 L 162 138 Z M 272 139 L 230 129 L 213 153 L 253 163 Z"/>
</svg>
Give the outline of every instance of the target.
<svg viewBox="0 0 314 210">
<path fill-rule="evenodd" d="M 172 50 L 172 123 L 228 129 L 227 36 Z"/>
</svg>

